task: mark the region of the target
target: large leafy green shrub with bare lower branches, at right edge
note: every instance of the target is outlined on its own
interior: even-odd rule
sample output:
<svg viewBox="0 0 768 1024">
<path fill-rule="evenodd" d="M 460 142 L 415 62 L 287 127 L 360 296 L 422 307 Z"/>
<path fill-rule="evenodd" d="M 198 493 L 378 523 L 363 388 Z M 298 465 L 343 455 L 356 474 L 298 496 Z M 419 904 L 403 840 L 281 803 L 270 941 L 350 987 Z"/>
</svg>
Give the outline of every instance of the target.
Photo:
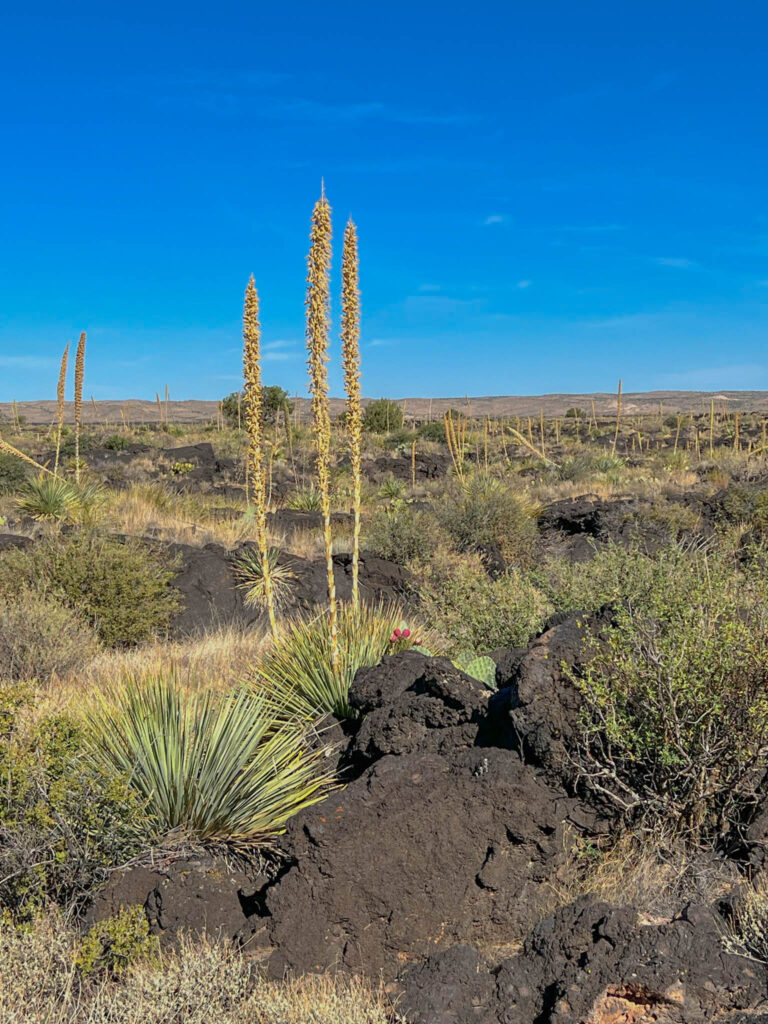
<svg viewBox="0 0 768 1024">
<path fill-rule="evenodd" d="M 672 548 L 592 641 L 581 773 L 630 818 L 697 839 L 749 811 L 768 767 L 768 579 Z"/>
</svg>

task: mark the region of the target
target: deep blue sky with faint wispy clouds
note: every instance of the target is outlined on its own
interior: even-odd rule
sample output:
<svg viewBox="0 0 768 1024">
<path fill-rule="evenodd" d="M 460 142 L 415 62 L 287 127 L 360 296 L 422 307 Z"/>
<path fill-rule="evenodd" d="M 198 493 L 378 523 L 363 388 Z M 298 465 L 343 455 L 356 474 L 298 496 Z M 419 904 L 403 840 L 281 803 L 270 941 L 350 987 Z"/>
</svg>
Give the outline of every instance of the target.
<svg viewBox="0 0 768 1024">
<path fill-rule="evenodd" d="M 0 400 L 54 397 L 81 329 L 88 396 L 233 390 L 252 271 L 266 380 L 303 392 L 323 175 L 366 394 L 768 388 L 764 0 L 24 7 Z"/>
</svg>

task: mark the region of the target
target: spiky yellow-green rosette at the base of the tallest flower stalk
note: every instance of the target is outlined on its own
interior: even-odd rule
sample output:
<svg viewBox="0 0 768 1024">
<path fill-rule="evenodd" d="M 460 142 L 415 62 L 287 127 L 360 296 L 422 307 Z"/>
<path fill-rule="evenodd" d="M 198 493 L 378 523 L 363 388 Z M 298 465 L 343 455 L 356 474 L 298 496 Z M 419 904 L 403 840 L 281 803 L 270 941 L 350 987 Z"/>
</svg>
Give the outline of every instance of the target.
<svg viewBox="0 0 768 1024">
<path fill-rule="evenodd" d="M 296 620 L 267 650 L 254 681 L 293 713 L 310 719 L 327 712 L 348 718 L 355 673 L 378 665 L 391 651 L 401 618 L 396 604 L 341 604 L 336 637 L 326 615 Z"/>
</svg>

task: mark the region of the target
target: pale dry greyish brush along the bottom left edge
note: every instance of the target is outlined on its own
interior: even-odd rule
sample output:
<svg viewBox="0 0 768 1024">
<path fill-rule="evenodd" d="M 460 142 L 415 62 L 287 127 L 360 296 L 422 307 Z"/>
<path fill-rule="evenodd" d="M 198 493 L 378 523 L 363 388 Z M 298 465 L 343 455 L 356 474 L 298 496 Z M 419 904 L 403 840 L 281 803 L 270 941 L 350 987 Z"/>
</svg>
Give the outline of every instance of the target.
<svg viewBox="0 0 768 1024">
<path fill-rule="evenodd" d="M 390 1024 L 383 992 L 359 979 L 267 981 L 232 944 L 184 937 L 118 979 L 73 971 L 82 940 L 53 914 L 34 927 L 0 920 L 4 1024 Z"/>
</svg>

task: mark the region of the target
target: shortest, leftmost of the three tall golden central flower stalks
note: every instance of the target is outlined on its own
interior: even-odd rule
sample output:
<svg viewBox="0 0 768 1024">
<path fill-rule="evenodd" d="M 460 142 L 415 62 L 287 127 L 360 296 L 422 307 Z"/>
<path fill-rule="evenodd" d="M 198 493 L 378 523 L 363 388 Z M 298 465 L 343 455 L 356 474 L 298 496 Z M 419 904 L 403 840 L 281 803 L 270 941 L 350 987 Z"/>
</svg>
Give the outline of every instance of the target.
<svg viewBox="0 0 768 1024">
<path fill-rule="evenodd" d="M 246 430 L 248 431 L 248 479 L 256 508 L 256 534 L 261 561 L 261 588 L 272 636 L 278 637 L 274 614 L 272 566 L 266 539 L 266 474 L 264 471 L 263 390 L 261 385 L 261 325 L 259 295 L 251 274 L 243 307 L 243 377 L 245 380 Z"/>
</svg>

